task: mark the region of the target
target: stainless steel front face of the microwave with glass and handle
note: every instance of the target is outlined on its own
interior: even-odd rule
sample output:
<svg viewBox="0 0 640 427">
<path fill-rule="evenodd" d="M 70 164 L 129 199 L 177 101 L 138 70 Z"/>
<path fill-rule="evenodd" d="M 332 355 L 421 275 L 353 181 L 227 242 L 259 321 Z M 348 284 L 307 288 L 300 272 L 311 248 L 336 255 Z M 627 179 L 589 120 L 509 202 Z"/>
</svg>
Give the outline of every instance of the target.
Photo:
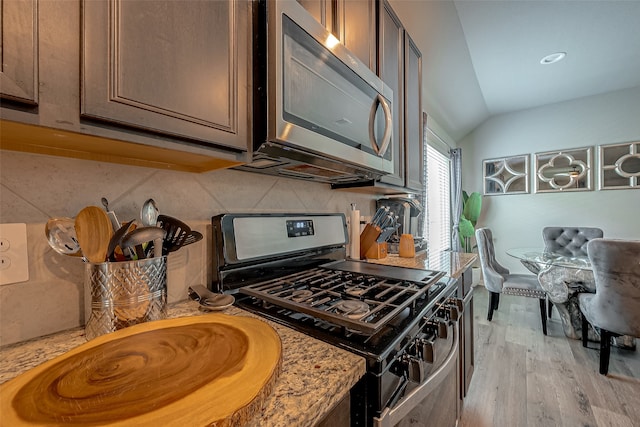
<svg viewBox="0 0 640 427">
<path fill-rule="evenodd" d="M 268 140 L 393 172 L 392 90 L 297 2 L 267 8 Z"/>
</svg>

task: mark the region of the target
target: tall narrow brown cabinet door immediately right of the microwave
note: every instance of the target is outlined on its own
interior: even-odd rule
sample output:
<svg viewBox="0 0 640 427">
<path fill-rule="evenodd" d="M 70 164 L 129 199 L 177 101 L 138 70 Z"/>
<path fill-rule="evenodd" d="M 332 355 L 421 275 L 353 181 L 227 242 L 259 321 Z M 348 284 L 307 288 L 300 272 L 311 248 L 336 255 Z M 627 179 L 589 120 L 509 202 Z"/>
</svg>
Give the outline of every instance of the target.
<svg viewBox="0 0 640 427">
<path fill-rule="evenodd" d="M 380 181 L 404 186 L 404 28 L 386 1 L 380 3 L 380 78 L 393 90 L 393 173 Z"/>
</svg>

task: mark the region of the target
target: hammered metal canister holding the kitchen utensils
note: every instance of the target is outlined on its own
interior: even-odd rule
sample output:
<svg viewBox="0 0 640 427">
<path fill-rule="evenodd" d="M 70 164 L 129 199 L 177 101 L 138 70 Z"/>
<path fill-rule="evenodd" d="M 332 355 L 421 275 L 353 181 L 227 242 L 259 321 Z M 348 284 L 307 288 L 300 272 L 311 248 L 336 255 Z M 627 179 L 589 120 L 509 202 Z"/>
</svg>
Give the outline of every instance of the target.
<svg viewBox="0 0 640 427">
<path fill-rule="evenodd" d="M 91 312 L 88 340 L 127 326 L 166 317 L 167 257 L 87 263 L 85 292 Z"/>
</svg>

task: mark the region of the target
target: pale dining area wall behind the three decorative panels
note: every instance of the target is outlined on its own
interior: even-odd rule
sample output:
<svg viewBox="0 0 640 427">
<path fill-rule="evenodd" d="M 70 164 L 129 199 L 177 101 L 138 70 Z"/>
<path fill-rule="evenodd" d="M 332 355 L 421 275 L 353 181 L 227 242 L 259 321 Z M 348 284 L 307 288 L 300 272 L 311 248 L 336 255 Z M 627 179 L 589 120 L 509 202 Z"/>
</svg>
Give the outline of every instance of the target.
<svg viewBox="0 0 640 427">
<path fill-rule="evenodd" d="M 482 161 L 567 148 L 640 140 L 640 87 L 492 117 L 464 138 L 463 189 L 482 192 Z M 533 164 L 530 165 L 533 170 Z M 531 175 L 531 173 L 530 173 Z M 597 190 L 485 196 L 478 226 L 490 227 L 496 257 L 512 272 L 527 272 L 505 254 L 542 247 L 545 226 L 596 226 L 605 237 L 640 239 L 640 190 Z M 530 186 L 533 189 L 533 185 Z"/>
</svg>

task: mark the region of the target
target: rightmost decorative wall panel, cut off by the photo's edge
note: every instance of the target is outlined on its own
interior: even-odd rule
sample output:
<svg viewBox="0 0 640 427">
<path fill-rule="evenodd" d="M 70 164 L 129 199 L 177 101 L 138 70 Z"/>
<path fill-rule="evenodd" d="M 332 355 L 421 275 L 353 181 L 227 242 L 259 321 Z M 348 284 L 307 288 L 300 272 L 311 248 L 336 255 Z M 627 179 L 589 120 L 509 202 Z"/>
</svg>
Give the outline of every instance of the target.
<svg viewBox="0 0 640 427">
<path fill-rule="evenodd" d="M 598 187 L 640 189 L 640 141 L 600 146 Z"/>
</svg>

